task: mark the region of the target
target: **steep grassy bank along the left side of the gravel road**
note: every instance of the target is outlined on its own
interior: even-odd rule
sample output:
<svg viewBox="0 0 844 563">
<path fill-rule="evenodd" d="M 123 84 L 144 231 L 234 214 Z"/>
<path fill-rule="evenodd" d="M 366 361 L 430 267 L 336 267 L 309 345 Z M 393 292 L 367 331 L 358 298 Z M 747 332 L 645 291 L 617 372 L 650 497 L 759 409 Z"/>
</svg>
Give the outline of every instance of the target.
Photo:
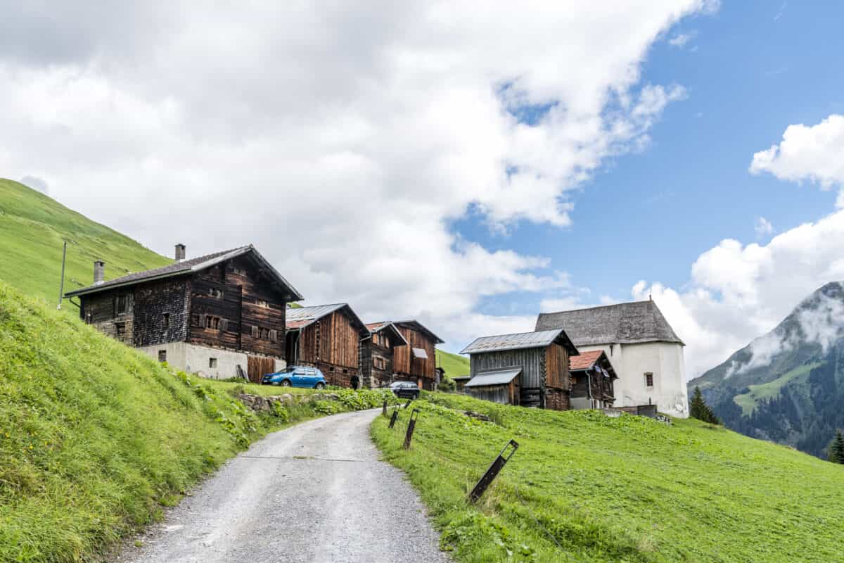
<svg viewBox="0 0 844 563">
<path fill-rule="evenodd" d="M 384 396 L 257 415 L 230 394 L 252 387 L 176 374 L 0 281 L 0 561 L 89 561 L 266 431 Z"/>
</svg>

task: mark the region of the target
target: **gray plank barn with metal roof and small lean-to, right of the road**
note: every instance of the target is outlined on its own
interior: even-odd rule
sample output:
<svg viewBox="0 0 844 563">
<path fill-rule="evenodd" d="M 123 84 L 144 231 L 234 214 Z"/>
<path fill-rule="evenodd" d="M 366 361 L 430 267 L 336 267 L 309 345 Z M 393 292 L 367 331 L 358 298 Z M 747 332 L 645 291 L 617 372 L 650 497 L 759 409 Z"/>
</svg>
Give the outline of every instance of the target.
<svg viewBox="0 0 844 563">
<path fill-rule="evenodd" d="M 579 352 L 561 328 L 477 338 L 461 354 L 470 357 L 472 379 L 466 389 L 475 397 L 491 395 L 499 402 L 541 409 L 571 408 L 569 358 Z M 506 376 L 511 380 L 506 383 L 505 396 L 501 388 L 505 383 L 500 380 Z M 476 377 L 481 377 L 479 382 Z"/>
</svg>

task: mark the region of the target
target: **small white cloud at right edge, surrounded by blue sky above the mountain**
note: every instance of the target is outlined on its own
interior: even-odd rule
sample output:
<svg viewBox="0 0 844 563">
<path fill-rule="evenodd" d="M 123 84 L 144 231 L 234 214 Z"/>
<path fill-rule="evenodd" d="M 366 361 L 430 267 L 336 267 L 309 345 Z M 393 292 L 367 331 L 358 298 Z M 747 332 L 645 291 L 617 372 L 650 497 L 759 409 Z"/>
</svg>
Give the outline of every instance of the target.
<svg viewBox="0 0 844 563">
<path fill-rule="evenodd" d="M 782 142 L 753 155 L 750 172 L 815 182 L 826 190 L 844 186 L 844 116 L 832 114 L 810 127 L 789 125 L 782 133 Z M 844 207 L 841 194 L 837 205 Z"/>
</svg>

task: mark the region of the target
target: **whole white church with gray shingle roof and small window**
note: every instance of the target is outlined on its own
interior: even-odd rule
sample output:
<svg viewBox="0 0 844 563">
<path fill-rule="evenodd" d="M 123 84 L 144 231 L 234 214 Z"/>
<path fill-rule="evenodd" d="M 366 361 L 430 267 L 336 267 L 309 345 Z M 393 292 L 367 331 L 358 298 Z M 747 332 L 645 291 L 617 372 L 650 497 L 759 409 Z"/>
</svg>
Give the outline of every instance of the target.
<svg viewBox="0 0 844 563">
<path fill-rule="evenodd" d="M 689 416 L 685 344 L 652 300 L 540 314 L 536 329 L 563 328 L 581 352 L 603 350 L 614 366 L 614 406 L 656 404 Z"/>
</svg>

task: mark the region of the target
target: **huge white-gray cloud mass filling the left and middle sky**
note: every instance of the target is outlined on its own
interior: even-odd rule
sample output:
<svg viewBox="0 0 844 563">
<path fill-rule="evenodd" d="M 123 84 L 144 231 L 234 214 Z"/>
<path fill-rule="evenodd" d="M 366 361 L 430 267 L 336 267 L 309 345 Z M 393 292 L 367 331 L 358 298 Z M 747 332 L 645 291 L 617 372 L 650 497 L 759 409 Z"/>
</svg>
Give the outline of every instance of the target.
<svg viewBox="0 0 844 563">
<path fill-rule="evenodd" d="M 480 298 L 565 274 L 449 221 L 568 225 L 569 192 L 685 95 L 641 84 L 648 48 L 717 8 L 214 6 L 3 7 L 0 170 L 160 252 L 254 242 L 307 302 L 419 317 L 453 346 L 524 324 Z"/>
</svg>

